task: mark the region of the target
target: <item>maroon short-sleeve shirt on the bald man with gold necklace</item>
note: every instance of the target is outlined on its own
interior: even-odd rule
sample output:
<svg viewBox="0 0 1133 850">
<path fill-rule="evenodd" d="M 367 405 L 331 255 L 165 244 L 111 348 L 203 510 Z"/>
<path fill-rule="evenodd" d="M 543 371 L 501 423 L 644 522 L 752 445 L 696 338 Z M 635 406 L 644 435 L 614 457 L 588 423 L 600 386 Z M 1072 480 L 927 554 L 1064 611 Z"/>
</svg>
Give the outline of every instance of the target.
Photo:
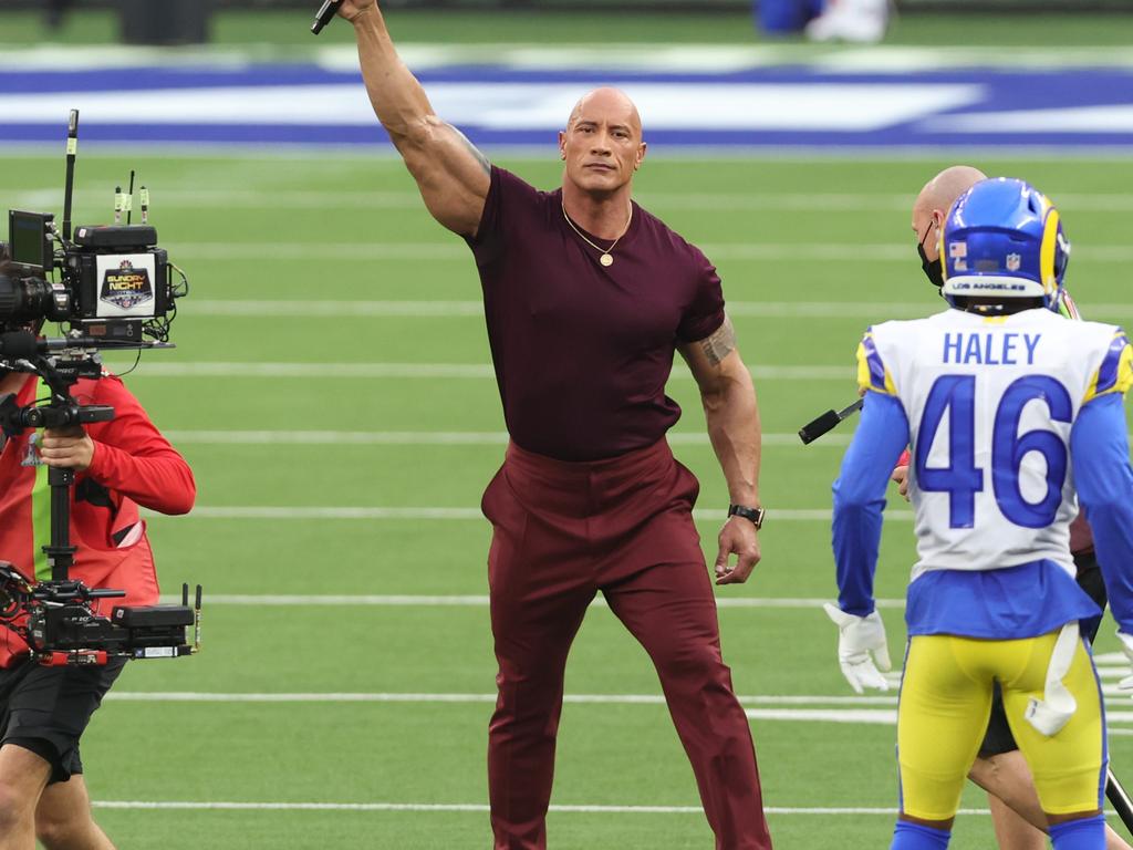
<svg viewBox="0 0 1133 850">
<path fill-rule="evenodd" d="M 598 460 L 664 436 L 681 415 L 665 394 L 676 346 L 724 321 L 719 278 L 700 250 L 634 203 L 603 266 L 563 218 L 562 189 L 538 192 L 500 168 L 468 241 L 504 419 L 520 448 Z"/>
</svg>

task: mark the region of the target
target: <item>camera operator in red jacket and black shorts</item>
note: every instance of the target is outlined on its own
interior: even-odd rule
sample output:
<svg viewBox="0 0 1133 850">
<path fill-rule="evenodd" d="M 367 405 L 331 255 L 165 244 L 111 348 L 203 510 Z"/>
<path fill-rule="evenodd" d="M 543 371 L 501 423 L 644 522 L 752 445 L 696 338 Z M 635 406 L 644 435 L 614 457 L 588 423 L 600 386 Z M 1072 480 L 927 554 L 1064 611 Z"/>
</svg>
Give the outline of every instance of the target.
<svg viewBox="0 0 1133 850">
<path fill-rule="evenodd" d="M 19 406 L 32 405 L 43 394 L 40 384 L 0 362 L 0 398 L 11 393 Z M 126 592 L 100 600 L 97 613 L 152 605 L 157 579 L 139 507 L 187 513 L 196 498 L 193 473 L 119 379 L 80 379 L 70 392 L 82 405 L 113 407 L 114 418 L 0 434 L 0 561 L 28 578 L 51 578 L 42 550 L 50 539 L 46 470 L 74 469 L 70 578 Z M 33 850 L 36 838 L 48 850 L 112 850 L 91 816 L 79 738 L 123 664 L 43 666 L 28 660 L 18 636 L 0 629 L 0 850 Z"/>
</svg>

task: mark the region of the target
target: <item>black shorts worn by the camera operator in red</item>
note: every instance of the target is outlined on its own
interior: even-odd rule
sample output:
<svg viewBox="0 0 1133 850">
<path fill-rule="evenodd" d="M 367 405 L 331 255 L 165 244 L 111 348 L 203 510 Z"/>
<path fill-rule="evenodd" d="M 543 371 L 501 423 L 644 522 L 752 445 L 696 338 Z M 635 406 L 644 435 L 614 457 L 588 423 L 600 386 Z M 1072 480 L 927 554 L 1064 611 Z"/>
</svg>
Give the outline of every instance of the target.
<svg viewBox="0 0 1133 850">
<path fill-rule="evenodd" d="M 49 784 L 83 773 L 78 739 L 125 665 L 122 658 L 105 666 L 68 668 L 26 661 L 0 670 L 0 743 L 23 747 L 48 762 Z"/>
</svg>

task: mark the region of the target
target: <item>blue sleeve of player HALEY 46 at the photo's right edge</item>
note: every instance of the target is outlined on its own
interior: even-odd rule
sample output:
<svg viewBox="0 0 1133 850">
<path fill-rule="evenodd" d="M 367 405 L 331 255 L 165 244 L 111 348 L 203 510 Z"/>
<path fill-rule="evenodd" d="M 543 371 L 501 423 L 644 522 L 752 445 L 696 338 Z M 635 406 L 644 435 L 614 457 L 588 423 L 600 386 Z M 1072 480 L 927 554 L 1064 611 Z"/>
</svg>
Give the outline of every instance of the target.
<svg viewBox="0 0 1133 850">
<path fill-rule="evenodd" d="M 1133 469 L 1121 394 L 1083 405 L 1070 434 L 1074 485 L 1122 631 L 1133 635 Z"/>
</svg>

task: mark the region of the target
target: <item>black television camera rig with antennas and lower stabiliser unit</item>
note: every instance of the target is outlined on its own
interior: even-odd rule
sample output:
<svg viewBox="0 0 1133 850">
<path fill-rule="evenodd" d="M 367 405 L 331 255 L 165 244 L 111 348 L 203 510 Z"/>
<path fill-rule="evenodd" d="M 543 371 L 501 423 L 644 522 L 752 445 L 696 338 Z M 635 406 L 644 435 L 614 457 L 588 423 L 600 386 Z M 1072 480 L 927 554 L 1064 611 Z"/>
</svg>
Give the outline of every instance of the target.
<svg viewBox="0 0 1133 850">
<path fill-rule="evenodd" d="M 133 175 L 129 195 L 117 193 L 114 224 L 77 227 L 73 238 L 77 137 L 78 111 L 73 110 L 62 227 L 56 226 L 50 213 L 11 210 L 8 249 L 0 243 L 0 260 L 8 261 L 0 266 L 0 376 L 35 374 L 50 389 L 44 402 L 23 407 L 15 396 L 0 396 L 5 437 L 28 428 L 112 419 L 113 408 L 80 405 L 70 388 L 82 377 L 102 376 L 103 350 L 173 348 L 169 330 L 177 314 L 176 300 L 188 294 L 188 280 L 157 247 L 144 187 L 143 223 L 131 223 Z M 45 322 L 66 324 L 67 329 L 58 338 L 40 335 Z M 105 664 L 114 657 L 168 658 L 197 652 L 199 585 L 191 607 L 185 585 L 180 605 L 114 606 L 110 617 L 95 612 L 101 600 L 126 594 L 90 588 L 69 575 L 76 553 L 70 545 L 74 483 L 74 470 L 49 468 L 51 542 L 43 551 L 51 568 L 50 580 L 28 578 L 0 552 L 0 628 L 23 638 L 33 660 L 45 665 Z M 195 632 L 191 644 L 189 627 Z"/>
</svg>

